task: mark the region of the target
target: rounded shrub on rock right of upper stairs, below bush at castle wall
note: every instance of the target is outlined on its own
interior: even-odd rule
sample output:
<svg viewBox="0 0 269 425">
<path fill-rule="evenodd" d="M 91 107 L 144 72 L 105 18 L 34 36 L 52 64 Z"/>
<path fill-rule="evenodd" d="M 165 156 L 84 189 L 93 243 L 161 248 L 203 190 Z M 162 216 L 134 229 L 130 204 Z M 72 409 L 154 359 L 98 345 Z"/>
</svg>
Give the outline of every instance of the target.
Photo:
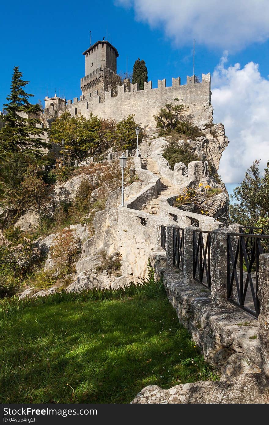
<svg viewBox="0 0 269 425">
<path fill-rule="evenodd" d="M 194 148 L 187 142 L 174 143 L 170 141 L 164 148 L 163 157 L 167 159 L 172 170 L 177 162 L 183 162 L 187 167 L 192 161 L 201 161 Z"/>
</svg>

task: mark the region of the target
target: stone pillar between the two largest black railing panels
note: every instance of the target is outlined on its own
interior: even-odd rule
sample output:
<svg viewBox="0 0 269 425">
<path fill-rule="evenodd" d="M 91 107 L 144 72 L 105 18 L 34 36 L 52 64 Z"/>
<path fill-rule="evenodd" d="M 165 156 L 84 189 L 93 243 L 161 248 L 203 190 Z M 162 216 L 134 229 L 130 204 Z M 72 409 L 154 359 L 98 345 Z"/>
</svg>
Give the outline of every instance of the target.
<svg viewBox="0 0 269 425">
<path fill-rule="evenodd" d="M 227 227 L 211 234 L 211 300 L 215 307 L 229 307 L 227 300 Z"/>
</svg>

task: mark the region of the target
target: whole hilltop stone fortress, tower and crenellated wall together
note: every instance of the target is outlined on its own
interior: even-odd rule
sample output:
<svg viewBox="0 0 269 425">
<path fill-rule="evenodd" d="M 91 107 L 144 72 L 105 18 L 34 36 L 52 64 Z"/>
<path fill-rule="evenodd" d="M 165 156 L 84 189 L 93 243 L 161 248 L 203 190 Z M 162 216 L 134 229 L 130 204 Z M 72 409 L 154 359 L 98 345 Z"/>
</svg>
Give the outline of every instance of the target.
<svg viewBox="0 0 269 425">
<path fill-rule="evenodd" d="M 117 96 L 113 91 L 105 91 L 106 81 L 111 73 L 117 71 L 116 48 L 108 41 L 97 41 L 83 52 L 85 56 L 85 76 L 80 80 L 81 96 L 73 100 L 57 97 L 45 97 L 44 127 L 64 111 L 71 116 L 80 113 L 88 118 L 91 113 L 103 119 L 119 121 L 128 114 L 134 114 L 137 123 L 146 129 L 155 126 L 153 115 L 164 107 L 165 103 L 186 105 L 188 113 L 203 128 L 212 124 L 212 106 L 210 103 L 210 74 L 202 74 L 202 81 L 195 83 L 194 76 L 187 77 L 187 84 L 181 85 L 180 77 L 172 79 L 172 86 L 166 86 L 166 80 L 158 80 L 158 88 L 152 88 L 152 82 L 144 82 L 144 90 L 138 90 L 137 84 L 118 86 Z M 176 101 L 177 102 L 177 101 Z"/>
</svg>

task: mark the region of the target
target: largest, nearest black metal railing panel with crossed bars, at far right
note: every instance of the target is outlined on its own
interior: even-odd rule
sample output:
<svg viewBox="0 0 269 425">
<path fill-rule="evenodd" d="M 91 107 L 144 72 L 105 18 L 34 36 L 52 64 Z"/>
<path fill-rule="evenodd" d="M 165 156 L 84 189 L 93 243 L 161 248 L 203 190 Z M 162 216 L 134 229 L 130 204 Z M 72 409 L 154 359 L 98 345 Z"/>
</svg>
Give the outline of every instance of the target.
<svg viewBox="0 0 269 425">
<path fill-rule="evenodd" d="M 260 313 L 259 258 L 262 241 L 268 239 L 269 235 L 227 233 L 227 299 L 255 317 Z"/>
</svg>

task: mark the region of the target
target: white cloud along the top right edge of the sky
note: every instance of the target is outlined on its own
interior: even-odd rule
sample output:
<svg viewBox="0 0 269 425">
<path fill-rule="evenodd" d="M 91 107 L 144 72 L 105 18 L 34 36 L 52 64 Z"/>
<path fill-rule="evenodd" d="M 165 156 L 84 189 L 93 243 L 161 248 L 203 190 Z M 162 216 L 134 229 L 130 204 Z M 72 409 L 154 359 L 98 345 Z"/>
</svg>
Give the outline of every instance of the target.
<svg viewBox="0 0 269 425">
<path fill-rule="evenodd" d="M 139 20 L 162 26 L 177 45 L 195 40 L 208 47 L 244 48 L 269 37 L 268 0 L 116 0 Z"/>
</svg>

